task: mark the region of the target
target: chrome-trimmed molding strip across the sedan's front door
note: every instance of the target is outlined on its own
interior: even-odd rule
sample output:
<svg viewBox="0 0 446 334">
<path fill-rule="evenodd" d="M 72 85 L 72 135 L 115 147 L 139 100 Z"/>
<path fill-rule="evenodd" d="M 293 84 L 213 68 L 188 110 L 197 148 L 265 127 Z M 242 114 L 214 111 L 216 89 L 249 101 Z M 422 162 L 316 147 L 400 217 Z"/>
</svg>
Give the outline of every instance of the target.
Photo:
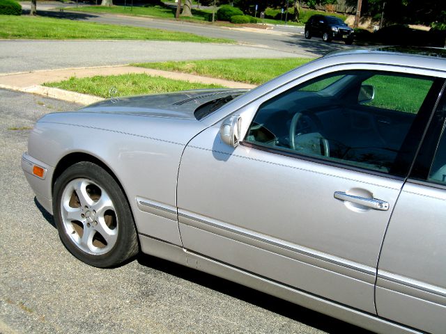
<svg viewBox="0 0 446 334">
<path fill-rule="evenodd" d="M 364 280 L 367 283 L 374 283 L 376 270 L 372 267 L 364 266 L 363 264 L 334 257 L 310 248 L 296 246 L 288 241 L 273 238 L 254 231 L 249 231 L 228 223 L 215 221 L 215 219 L 210 219 L 199 214 L 193 214 L 192 212 L 187 212 L 182 209 L 178 209 L 178 221 L 185 225 L 190 225 L 194 228 L 199 228 L 207 232 L 216 233 L 223 237 L 229 237 L 251 246 L 259 246 L 260 242 L 262 243 L 261 248 L 269 248 L 268 250 L 278 253 L 279 255 L 291 257 L 295 260 L 300 260 L 308 264 L 317 265 L 318 267 L 322 267 L 330 271 L 334 270 L 344 275 L 353 276 L 360 280 Z M 230 232 L 231 234 L 229 235 L 226 232 Z M 294 254 L 290 254 L 290 251 Z M 325 264 L 323 262 L 325 262 Z M 346 272 L 344 269 L 349 270 Z M 357 273 L 361 273 L 361 275 L 358 276 L 353 274 L 351 270 L 357 271 Z M 369 276 L 369 278 L 364 279 L 363 274 L 366 274 Z"/>
</svg>

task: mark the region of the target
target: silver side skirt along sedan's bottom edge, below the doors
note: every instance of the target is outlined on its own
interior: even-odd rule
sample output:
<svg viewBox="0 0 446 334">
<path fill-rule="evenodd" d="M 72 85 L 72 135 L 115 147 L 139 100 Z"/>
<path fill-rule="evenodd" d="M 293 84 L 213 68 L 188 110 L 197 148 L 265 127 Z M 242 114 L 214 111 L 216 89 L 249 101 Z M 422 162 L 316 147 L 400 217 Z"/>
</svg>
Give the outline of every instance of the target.
<svg viewBox="0 0 446 334">
<path fill-rule="evenodd" d="M 145 234 L 139 234 L 139 241 L 143 253 L 160 257 L 164 260 L 176 262 L 183 266 L 191 267 L 214 276 L 231 280 L 232 282 L 251 287 L 280 299 L 290 301 L 305 308 L 321 312 L 330 317 L 341 319 L 350 324 L 366 328 L 376 333 L 420 333 L 412 328 L 407 328 L 391 321 L 378 318 L 368 313 L 360 312 L 345 305 L 322 299 L 313 294 L 300 291 L 293 287 L 282 285 L 267 278 L 256 276 L 253 273 L 243 271 L 228 264 L 217 262 L 208 257 L 192 253 L 185 248 L 169 244 L 160 239 L 153 239 Z"/>
</svg>

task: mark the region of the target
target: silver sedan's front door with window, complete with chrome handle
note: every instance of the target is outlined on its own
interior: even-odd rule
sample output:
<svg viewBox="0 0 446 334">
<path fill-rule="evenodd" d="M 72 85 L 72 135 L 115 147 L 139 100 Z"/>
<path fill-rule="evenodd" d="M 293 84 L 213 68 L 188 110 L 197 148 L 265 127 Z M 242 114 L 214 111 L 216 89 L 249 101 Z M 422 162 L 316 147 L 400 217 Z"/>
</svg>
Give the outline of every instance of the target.
<svg viewBox="0 0 446 334">
<path fill-rule="evenodd" d="M 248 129 L 236 148 L 221 122 L 190 141 L 180 234 L 192 252 L 375 313 L 380 246 L 438 87 L 335 70 L 238 111 Z M 394 90 L 416 98 L 396 103 Z"/>
</svg>

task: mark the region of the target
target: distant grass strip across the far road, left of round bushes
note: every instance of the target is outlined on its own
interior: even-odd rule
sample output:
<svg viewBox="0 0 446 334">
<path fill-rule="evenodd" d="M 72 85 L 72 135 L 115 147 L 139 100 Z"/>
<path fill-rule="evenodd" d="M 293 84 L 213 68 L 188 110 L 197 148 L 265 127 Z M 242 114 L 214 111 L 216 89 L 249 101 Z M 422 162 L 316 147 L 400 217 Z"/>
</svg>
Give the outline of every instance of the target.
<svg viewBox="0 0 446 334">
<path fill-rule="evenodd" d="M 110 14 L 123 14 L 123 15 L 142 15 L 160 17 L 162 19 L 174 19 L 176 8 L 167 6 L 147 6 L 140 7 L 134 6 L 82 6 L 78 8 L 66 8 L 67 10 L 77 10 L 82 12 L 91 13 L 110 13 Z M 192 19 L 197 21 L 210 21 L 212 17 L 212 10 L 197 10 L 192 9 L 193 17 L 180 17 L 180 19 Z"/>
</svg>

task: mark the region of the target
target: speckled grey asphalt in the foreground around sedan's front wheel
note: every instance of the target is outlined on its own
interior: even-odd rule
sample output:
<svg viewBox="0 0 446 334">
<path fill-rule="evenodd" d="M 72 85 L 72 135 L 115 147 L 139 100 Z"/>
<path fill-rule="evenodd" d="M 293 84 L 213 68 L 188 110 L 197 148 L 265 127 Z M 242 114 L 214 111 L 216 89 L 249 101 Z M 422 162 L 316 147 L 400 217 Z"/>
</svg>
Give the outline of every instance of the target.
<svg viewBox="0 0 446 334">
<path fill-rule="evenodd" d="M 7 90 L 0 105 L 0 333 L 364 333 L 153 257 L 116 269 L 82 264 L 20 169 L 36 119 L 77 106 Z"/>
</svg>

